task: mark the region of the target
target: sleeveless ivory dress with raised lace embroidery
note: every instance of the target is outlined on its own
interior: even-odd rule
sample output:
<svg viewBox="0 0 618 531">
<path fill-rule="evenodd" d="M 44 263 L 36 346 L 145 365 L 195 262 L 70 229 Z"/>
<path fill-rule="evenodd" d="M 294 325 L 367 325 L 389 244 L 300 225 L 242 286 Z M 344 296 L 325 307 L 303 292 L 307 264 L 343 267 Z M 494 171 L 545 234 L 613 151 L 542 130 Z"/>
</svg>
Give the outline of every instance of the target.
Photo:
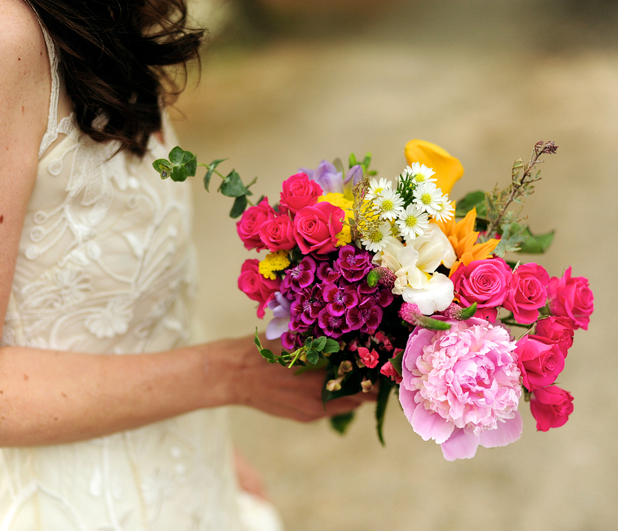
<svg viewBox="0 0 618 531">
<path fill-rule="evenodd" d="M 174 144 L 152 139 L 143 160 L 114 155 L 115 144 L 80 135 L 71 116 L 58 120 L 67 96 L 45 41 L 49 121 L 1 344 L 116 354 L 181 346 L 194 278 L 189 188 L 151 166 Z M 0 531 L 244 530 L 239 507 L 222 410 L 0 449 Z"/>
</svg>

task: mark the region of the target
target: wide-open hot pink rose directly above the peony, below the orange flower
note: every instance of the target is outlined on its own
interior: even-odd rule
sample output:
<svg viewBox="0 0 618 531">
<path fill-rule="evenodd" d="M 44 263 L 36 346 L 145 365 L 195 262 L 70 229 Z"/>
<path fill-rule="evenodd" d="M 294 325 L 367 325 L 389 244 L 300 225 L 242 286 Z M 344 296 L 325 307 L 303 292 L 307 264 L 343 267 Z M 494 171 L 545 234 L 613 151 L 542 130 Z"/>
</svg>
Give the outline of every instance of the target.
<svg viewBox="0 0 618 531">
<path fill-rule="evenodd" d="M 455 286 L 462 306 L 477 303 L 482 315 L 496 321 L 496 306 L 503 304 L 511 284 L 512 271 L 502 258 L 474 260 L 467 266 L 460 265 L 450 280 Z"/>
</svg>

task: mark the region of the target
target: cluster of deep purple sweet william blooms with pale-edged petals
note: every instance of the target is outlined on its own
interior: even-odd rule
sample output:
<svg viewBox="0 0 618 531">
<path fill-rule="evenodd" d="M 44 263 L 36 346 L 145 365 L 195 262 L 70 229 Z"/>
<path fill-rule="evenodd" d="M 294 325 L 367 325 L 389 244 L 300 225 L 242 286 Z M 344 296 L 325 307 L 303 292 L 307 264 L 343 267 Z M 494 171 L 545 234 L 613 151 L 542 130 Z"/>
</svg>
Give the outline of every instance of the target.
<svg viewBox="0 0 618 531">
<path fill-rule="evenodd" d="M 285 348 L 300 346 L 300 335 L 337 339 L 347 332 L 372 335 L 382 321 L 382 308 L 393 302 L 391 290 L 371 287 L 365 278 L 373 255 L 354 245 L 339 249 L 335 260 L 307 255 L 286 271 L 282 295 L 290 301 L 290 332 Z"/>
</svg>

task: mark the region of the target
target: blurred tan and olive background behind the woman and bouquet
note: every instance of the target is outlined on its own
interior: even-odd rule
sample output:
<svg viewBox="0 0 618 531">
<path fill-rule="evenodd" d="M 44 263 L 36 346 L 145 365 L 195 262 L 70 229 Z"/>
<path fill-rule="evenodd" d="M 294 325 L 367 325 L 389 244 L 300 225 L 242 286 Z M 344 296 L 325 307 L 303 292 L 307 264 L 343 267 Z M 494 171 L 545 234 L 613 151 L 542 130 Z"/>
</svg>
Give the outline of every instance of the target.
<svg viewBox="0 0 618 531">
<path fill-rule="evenodd" d="M 238 447 L 262 470 L 291 531 L 618 529 L 618 7 L 609 0 L 194 1 L 211 30 L 201 81 L 191 74 L 174 124 L 201 161 L 229 157 L 275 203 L 284 179 L 322 159 L 371 152 L 381 177 L 404 168 L 413 138 L 466 169 L 451 197 L 506 186 L 514 159 L 553 140 L 527 200 L 531 229 L 557 229 L 538 258 L 569 265 L 595 293 L 559 384 L 569 422 L 446 462 L 391 399 L 386 447 L 365 405 L 346 436 L 232 408 Z M 214 181 L 213 181 L 214 183 Z M 201 315 L 210 337 L 262 329 L 236 288 L 248 256 L 231 201 L 195 185 Z M 214 188 L 214 187 L 213 187 Z M 536 260 L 522 257 L 522 260 Z M 257 352 L 256 352 L 256 355 Z"/>
</svg>

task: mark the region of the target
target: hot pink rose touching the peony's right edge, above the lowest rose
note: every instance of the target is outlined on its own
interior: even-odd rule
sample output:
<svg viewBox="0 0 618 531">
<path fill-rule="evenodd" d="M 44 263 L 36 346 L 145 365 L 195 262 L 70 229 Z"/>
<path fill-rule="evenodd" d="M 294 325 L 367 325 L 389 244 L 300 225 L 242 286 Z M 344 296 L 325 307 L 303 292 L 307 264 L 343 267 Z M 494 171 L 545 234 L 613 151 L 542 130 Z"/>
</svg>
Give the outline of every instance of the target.
<svg viewBox="0 0 618 531">
<path fill-rule="evenodd" d="M 564 354 L 558 343 L 536 335 L 525 335 L 517 341 L 518 362 L 523 385 L 529 391 L 547 387 L 564 369 Z"/>
</svg>

